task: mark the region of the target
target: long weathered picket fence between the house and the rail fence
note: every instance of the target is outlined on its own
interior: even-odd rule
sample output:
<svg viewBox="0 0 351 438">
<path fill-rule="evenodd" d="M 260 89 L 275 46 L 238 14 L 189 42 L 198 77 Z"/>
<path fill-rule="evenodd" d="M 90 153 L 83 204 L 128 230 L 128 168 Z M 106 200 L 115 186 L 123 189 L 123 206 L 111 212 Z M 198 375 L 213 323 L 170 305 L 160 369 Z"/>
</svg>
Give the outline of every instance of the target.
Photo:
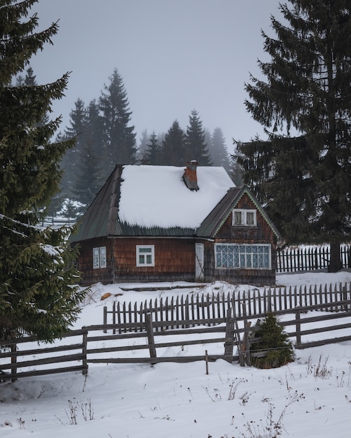
<svg viewBox="0 0 351 438">
<path fill-rule="evenodd" d="M 350 299 L 351 283 L 338 283 L 335 285 L 310 285 L 310 287 L 294 288 L 263 288 L 235 292 L 235 295 L 224 294 L 191 294 L 163 299 L 145 300 L 142 303 L 127 304 L 125 302 L 113 302 L 112 309 L 104 306 L 103 324 L 125 325 L 118 330 L 136 331 L 137 328 L 128 328 L 130 323 L 145 323 L 146 314 L 151 313 L 153 321 L 163 323 L 163 327 L 185 328 L 185 320 L 206 320 L 207 325 L 215 325 L 219 320 L 226 319 L 228 310 L 233 311 L 234 316 L 256 316 L 270 312 L 294 309 L 298 306 L 320 305 L 324 311 L 347 311 L 347 305 L 343 302 Z M 171 321 L 178 321 L 177 325 Z M 183 323 L 179 323 L 183 321 Z M 194 323 L 191 324 L 194 326 Z M 156 327 L 156 330 L 160 330 Z M 116 330 L 115 330 L 116 332 Z"/>
</svg>

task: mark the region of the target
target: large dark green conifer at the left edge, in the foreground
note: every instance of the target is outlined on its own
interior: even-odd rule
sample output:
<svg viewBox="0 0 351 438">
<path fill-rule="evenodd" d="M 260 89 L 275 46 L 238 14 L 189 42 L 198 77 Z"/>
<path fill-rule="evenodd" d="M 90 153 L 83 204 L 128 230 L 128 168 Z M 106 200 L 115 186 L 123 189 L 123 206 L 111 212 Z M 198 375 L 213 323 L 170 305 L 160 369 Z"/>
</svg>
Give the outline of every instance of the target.
<svg viewBox="0 0 351 438">
<path fill-rule="evenodd" d="M 42 229 L 36 212 L 58 189 L 60 159 L 73 142 L 50 143 L 60 118 L 41 124 L 68 75 L 49 85 L 11 86 L 57 24 L 35 33 L 36 0 L 0 0 L 0 337 L 12 330 L 50 340 L 76 320 L 76 251 L 67 229 Z"/>
</svg>

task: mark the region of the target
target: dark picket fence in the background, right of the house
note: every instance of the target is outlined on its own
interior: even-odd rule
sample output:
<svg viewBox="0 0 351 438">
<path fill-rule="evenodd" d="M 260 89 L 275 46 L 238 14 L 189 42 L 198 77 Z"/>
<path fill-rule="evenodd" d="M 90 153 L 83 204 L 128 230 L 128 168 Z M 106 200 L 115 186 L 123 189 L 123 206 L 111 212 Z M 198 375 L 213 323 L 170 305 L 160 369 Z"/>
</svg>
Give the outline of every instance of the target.
<svg viewBox="0 0 351 438">
<path fill-rule="evenodd" d="M 340 246 L 340 259 L 344 268 L 351 268 L 351 245 Z M 316 271 L 327 269 L 330 260 L 329 246 L 305 246 L 277 250 L 277 272 Z"/>
</svg>

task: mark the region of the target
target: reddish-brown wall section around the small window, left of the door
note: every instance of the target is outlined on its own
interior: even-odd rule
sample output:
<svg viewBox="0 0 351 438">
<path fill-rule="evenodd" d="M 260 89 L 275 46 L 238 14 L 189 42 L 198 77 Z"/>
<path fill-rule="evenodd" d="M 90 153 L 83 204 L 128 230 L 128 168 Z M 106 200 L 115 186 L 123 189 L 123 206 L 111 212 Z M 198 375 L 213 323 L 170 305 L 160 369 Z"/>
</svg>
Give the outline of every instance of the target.
<svg viewBox="0 0 351 438">
<path fill-rule="evenodd" d="M 115 283 L 128 281 L 195 281 L 193 239 L 113 239 Z M 154 267 L 137 267 L 136 246 L 153 245 Z"/>
</svg>

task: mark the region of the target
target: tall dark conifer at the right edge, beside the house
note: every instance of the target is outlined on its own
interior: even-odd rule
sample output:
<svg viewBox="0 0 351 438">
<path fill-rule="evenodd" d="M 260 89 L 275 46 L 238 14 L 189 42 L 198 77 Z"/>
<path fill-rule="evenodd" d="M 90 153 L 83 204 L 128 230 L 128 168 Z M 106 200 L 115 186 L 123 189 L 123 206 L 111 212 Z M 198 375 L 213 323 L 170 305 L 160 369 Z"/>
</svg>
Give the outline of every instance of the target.
<svg viewBox="0 0 351 438">
<path fill-rule="evenodd" d="M 330 243 L 337 271 L 351 236 L 351 4 L 289 3 L 280 5 L 284 24 L 271 18 L 276 38 L 263 33 L 266 82 L 245 85 L 268 140 L 242 143 L 238 162 L 285 241 Z"/>
</svg>

